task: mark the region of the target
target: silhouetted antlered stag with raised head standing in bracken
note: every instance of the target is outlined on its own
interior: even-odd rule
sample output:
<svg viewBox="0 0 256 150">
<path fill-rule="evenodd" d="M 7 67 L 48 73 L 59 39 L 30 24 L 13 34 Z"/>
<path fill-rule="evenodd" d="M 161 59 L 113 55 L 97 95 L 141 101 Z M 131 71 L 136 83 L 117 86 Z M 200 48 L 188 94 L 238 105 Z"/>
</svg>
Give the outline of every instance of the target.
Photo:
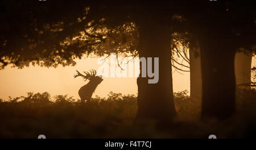
<svg viewBox="0 0 256 150">
<path fill-rule="evenodd" d="M 96 70 L 89 70 L 89 72 L 84 72 L 81 74 L 79 71 L 76 70 L 77 74 L 74 75 L 76 77 L 82 77 L 84 80 L 89 80 L 88 84 L 82 86 L 79 90 L 79 96 L 81 98 L 81 103 L 89 102 L 92 98 L 93 92 L 96 90 L 96 87 L 103 81 L 102 76 L 96 76 Z"/>
</svg>

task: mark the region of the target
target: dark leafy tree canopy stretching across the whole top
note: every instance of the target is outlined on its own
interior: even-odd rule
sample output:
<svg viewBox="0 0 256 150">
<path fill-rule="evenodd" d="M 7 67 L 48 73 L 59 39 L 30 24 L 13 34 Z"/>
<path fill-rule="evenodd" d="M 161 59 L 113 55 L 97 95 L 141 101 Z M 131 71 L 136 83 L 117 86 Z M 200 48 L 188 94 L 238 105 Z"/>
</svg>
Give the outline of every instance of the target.
<svg viewBox="0 0 256 150">
<path fill-rule="evenodd" d="M 137 56 L 139 27 L 148 19 L 169 24 L 185 44 L 205 35 L 232 39 L 237 48 L 255 44 L 250 2 L 1 1 L 0 7 L 1 68 L 75 65 L 90 53 Z"/>
</svg>

